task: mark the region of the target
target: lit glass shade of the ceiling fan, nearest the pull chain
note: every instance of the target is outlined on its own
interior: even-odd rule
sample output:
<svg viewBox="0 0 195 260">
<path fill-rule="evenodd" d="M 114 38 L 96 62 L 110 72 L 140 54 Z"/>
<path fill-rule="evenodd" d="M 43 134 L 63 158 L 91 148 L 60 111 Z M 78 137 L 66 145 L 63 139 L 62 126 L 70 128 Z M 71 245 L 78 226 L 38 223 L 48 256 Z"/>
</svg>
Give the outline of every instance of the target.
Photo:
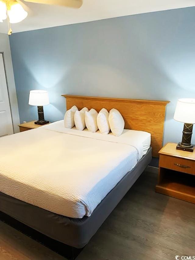
<svg viewBox="0 0 195 260">
<path fill-rule="evenodd" d="M 23 9 L 22 5 L 14 1 L 8 9 L 10 23 L 19 23 L 27 17 L 28 13 Z"/>
</svg>

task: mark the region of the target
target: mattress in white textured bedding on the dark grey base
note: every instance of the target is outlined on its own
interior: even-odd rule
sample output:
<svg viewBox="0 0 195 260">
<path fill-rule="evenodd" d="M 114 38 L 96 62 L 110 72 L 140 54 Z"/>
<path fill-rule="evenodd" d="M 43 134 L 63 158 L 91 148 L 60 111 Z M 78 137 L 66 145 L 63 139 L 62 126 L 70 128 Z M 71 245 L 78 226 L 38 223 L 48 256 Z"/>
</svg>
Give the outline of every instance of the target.
<svg viewBox="0 0 195 260">
<path fill-rule="evenodd" d="M 142 158 L 148 138 L 66 129 L 63 120 L 2 137 L 0 191 L 59 215 L 90 216 Z"/>
</svg>

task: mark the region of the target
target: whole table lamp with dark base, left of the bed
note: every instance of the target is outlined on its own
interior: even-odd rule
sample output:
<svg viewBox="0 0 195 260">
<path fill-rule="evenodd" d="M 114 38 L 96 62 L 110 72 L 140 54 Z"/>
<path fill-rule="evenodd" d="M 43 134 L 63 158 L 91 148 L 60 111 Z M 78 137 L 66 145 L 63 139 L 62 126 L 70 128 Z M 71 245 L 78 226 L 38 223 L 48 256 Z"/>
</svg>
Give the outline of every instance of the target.
<svg viewBox="0 0 195 260">
<path fill-rule="evenodd" d="M 43 106 L 49 105 L 48 91 L 45 90 L 31 90 L 29 94 L 29 105 L 37 106 L 38 108 L 38 121 L 34 122 L 36 125 L 45 125 L 49 121 L 44 119 Z"/>
</svg>

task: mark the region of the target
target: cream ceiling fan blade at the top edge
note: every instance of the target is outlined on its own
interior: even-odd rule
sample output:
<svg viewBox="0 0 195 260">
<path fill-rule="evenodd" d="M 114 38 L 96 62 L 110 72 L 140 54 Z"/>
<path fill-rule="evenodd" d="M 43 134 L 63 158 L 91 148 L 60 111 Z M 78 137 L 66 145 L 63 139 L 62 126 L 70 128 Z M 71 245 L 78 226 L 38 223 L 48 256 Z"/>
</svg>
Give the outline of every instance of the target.
<svg viewBox="0 0 195 260">
<path fill-rule="evenodd" d="M 80 8 L 83 0 L 24 0 L 25 2 L 46 4 L 46 5 L 62 5 L 72 8 Z"/>
</svg>

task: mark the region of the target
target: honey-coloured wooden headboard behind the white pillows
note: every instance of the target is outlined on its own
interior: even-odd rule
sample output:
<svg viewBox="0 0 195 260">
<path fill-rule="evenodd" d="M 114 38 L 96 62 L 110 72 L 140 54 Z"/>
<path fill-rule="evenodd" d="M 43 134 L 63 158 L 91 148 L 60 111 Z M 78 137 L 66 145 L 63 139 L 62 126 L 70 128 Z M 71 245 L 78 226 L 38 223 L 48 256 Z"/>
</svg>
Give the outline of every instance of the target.
<svg viewBox="0 0 195 260">
<path fill-rule="evenodd" d="M 66 98 L 66 109 L 76 105 L 78 109 L 94 108 L 99 112 L 102 108 L 108 111 L 115 108 L 125 120 L 125 129 L 146 131 L 151 133 L 152 156 L 158 157 L 162 147 L 165 121 L 165 107 L 169 101 L 138 100 L 126 98 L 101 98 L 62 95 Z"/>
</svg>

